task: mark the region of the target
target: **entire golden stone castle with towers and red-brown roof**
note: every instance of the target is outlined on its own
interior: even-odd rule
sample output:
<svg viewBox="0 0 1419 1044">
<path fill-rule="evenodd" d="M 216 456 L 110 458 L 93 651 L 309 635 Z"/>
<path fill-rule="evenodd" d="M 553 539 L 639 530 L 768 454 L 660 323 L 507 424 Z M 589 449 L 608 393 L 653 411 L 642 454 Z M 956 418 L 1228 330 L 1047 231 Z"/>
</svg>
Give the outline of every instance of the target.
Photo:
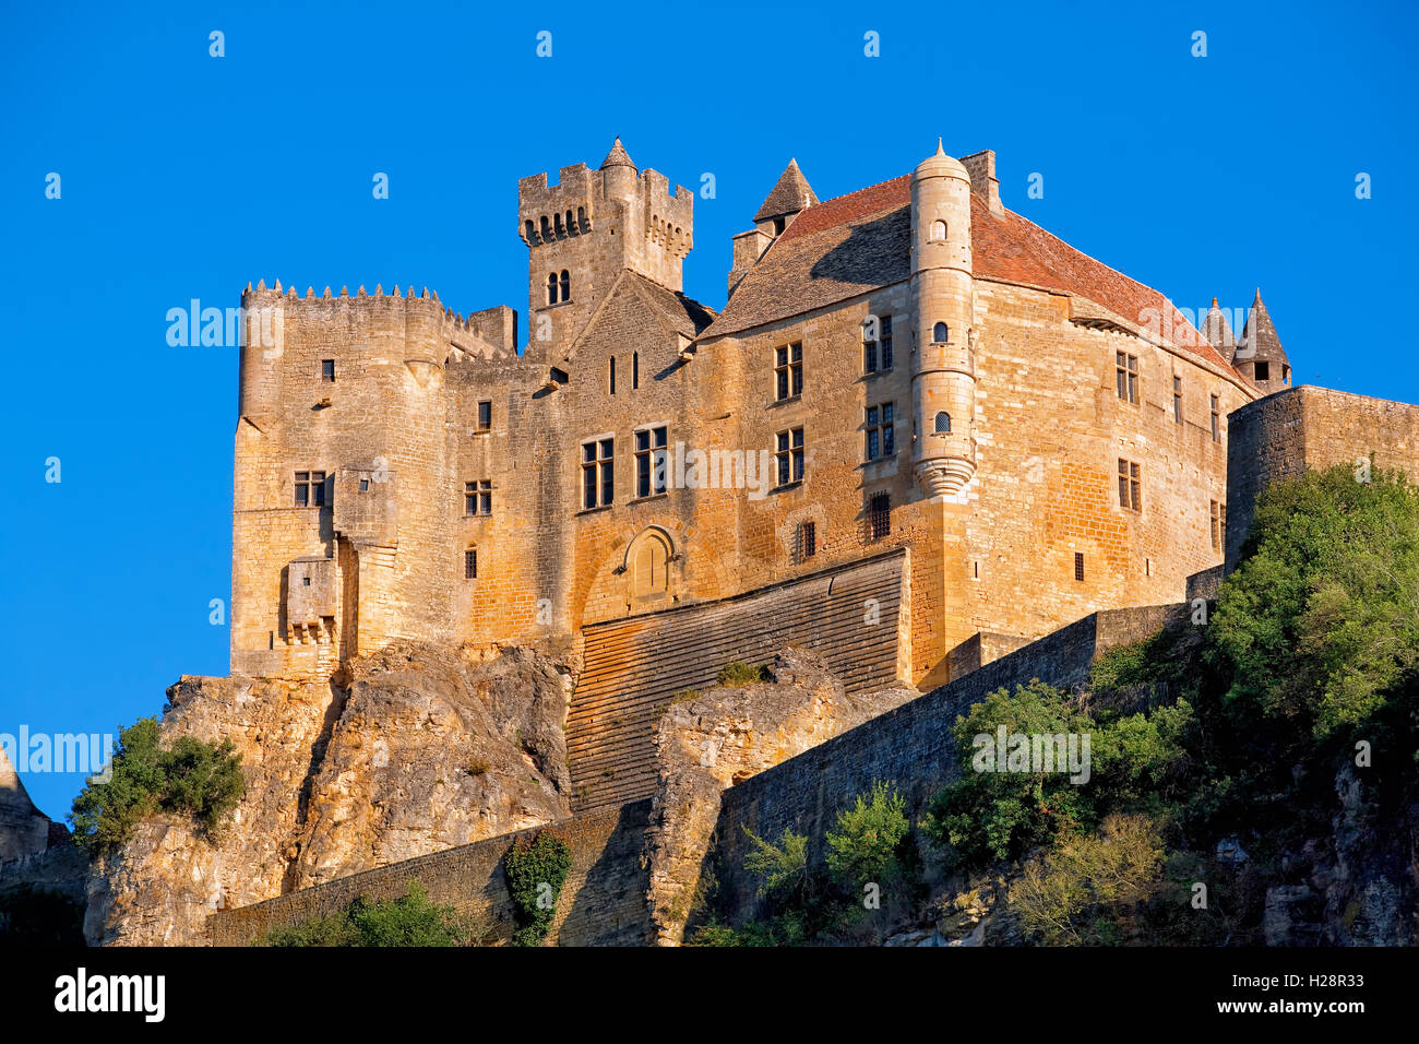
<svg viewBox="0 0 1419 1044">
<path fill-rule="evenodd" d="M 248 287 L 233 670 L 575 645 L 897 553 L 925 690 L 1223 561 L 1227 415 L 1290 385 L 1260 294 L 1196 330 L 1005 209 L 989 151 L 829 200 L 790 162 L 752 226 L 690 300 L 694 195 L 617 139 L 518 185 L 522 351 L 507 305 Z"/>
</svg>

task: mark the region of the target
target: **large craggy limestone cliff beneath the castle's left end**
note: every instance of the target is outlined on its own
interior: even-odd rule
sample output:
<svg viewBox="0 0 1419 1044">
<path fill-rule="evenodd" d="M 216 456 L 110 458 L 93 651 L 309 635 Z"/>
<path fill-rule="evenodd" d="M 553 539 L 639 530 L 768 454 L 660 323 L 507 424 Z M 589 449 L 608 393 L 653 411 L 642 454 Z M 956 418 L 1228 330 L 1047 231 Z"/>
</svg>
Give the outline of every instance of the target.
<svg viewBox="0 0 1419 1044">
<path fill-rule="evenodd" d="M 214 842 L 163 817 L 99 859 L 91 943 L 201 945 L 219 909 L 568 815 L 563 665 L 392 643 L 342 682 L 184 676 L 167 690 L 165 741 L 230 739 L 245 795 Z"/>
</svg>

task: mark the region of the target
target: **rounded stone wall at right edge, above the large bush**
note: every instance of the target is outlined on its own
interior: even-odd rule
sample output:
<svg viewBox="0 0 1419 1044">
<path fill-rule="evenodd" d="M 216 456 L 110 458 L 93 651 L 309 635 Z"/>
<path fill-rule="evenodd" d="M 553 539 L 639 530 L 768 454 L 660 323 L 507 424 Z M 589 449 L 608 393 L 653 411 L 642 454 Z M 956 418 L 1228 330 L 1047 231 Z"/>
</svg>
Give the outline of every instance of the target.
<svg viewBox="0 0 1419 1044">
<path fill-rule="evenodd" d="M 1419 480 L 1416 405 L 1301 385 L 1237 409 L 1229 425 L 1229 572 L 1252 531 L 1256 499 L 1273 482 L 1371 459 L 1374 467 L 1398 467 Z"/>
</svg>

